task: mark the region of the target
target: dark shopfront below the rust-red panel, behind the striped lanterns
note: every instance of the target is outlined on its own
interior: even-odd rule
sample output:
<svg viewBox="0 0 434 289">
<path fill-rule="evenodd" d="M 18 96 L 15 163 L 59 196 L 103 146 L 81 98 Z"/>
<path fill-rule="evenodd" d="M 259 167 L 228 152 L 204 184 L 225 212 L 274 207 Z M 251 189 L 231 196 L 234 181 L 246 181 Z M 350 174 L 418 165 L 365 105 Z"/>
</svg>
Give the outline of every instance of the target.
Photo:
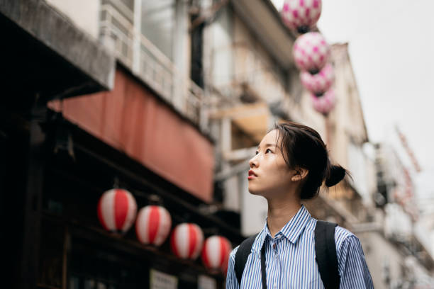
<svg viewBox="0 0 434 289">
<path fill-rule="evenodd" d="M 222 288 L 223 274 L 207 271 L 200 258 L 177 259 L 168 240 L 156 248 L 140 244 L 134 228 L 123 236 L 106 232 L 96 217 L 96 205 L 104 191 L 118 186 L 133 193 L 138 208 L 164 205 L 172 215 L 172 227 L 194 222 L 206 237 L 221 234 L 235 242 L 242 239 L 239 231 L 201 213 L 201 200 L 125 154 L 77 126 L 67 123 L 67 127 L 64 130 L 74 140 L 74 159 L 63 149 L 52 154 L 46 166 L 40 288 L 152 288 L 150 278 L 155 273 L 164 277 L 161 282 L 177 285 L 164 288 L 199 288 L 200 280 L 216 286 L 208 288 Z"/>
</svg>

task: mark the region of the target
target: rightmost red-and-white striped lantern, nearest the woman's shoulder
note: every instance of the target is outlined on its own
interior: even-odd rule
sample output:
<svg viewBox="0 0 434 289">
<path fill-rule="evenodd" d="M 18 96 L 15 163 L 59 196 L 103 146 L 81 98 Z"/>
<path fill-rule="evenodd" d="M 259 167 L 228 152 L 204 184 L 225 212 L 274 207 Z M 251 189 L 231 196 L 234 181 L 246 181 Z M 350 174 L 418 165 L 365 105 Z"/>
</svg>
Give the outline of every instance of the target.
<svg viewBox="0 0 434 289">
<path fill-rule="evenodd" d="M 206 268 L 226 271 L 232 246 L 225 237 L 208 237 L 202 249 L 202 261 Z"/>
</svg>

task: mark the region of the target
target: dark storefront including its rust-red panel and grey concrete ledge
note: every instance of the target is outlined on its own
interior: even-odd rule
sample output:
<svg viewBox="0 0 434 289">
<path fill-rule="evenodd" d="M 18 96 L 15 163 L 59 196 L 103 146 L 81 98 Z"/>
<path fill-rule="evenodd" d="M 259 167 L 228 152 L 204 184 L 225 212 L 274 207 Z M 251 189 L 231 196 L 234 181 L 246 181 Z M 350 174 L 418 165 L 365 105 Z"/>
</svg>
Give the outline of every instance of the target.
<svg viewBox="0 0 434 289">
<path fill-rule="evenodd" d="M 239 244 L 239 228 L 209 210 L 212 142 L 45 1 L 1 5 L 0 23 L 11 40 L 0 100 L 4 288 L 221 287 L 223 273 L 200 258 L 178 259 L 168 240 L 140 244 L 134 228 L 106 232 L 96 210 L 104 191 L 126 188 L 138 208 L 163 205 L 172 227 L 194 222 Z M 121 74 L 135 91 L 118 85 Z"/>
</svg>

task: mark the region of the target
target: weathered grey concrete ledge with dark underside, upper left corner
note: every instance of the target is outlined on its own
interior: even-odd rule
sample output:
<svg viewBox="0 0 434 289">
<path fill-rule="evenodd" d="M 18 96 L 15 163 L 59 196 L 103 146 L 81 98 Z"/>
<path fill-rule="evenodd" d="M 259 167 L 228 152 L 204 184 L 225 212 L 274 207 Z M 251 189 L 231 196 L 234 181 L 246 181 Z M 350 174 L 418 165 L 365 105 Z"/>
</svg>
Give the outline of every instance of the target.
<svg viewBox="0 0 434 289">
<path fill-rule="evenodd" d="M 114 57 L 93 38 L 83 33 L 82 30 L 77 29 L 70 21 L 67 21 L 67 19 L 58 13 L 57 10 L 53 9 L 52 6 L 46 4 L 45 1 L 1 1 L 0 14 L 9 18 L 14 25 L 19 26 L 19 28 L 23 30 L 20 30 L 20 33 L 26 33 L 14 35 L 13 41 L 3 43 L 2 47 L 6 47 L 5 51 L 7 52 L 8 49 L 11 49 L 13 53 L 21 53 L 22 55 L 20 57 L 24 60 L 26 60 L 26 57 L 29 57 L 29 54 L 37 55 L 37 57 L 33 57 L 32 60 L 26 60 L 26 69 L 21 69 L 19 75 L 20 79 L 26 79 L 28 75 L 30 80 L 26 81 L 33 81 L 35 77 L 32 77 L 30 73 L 35 69 L 35 74 L 43 71 L 47 75 L 45 76 L 43 73 L 36 75 L 38 82 L 41 81 L 41 83 L 38 84 L 39 87 L 45 85 L 45 82 L 42 83 L 42 81 L 48 82 L 48 80 L 51 81 L 51 86 L 57 86 L 58 81 L 65 81 L 65 79 L 62 79 L 62 77 L 56 78 L 56 76 L 66 74 L 66 67 L 62 69 L 62 71 L 56 71 L 55 69 L 59 68 L 56 67 L 55 64 L 62 64 L 65 60 L 69 62 L 69 64 L 72 64 L 72 69 L 69 69 L 70 71 L 79 70 L 92 81 L 88 81 L 87 84 L 75 83 L 74 85 L 76 87 L 71 88 L 70 91 L 62 91 L 62 94 L 60 94 L 60 91 L 50 91 L 52 94 L 59 94 L 57 97 L 75 95 L 74 91 L 86 91 L 86 93 L 89 93 L 89 91 L 111 89 L 113 86 L 113 74 L 115 70 Z M 7 36 L 7 34 L 4 36 Z M 30 40 L 28 39 L 32 39 L 32 42 L 29 42 Z M 20 41 L 26 42 L 20 43 Z M 31 43 L 31 45 L 29 43 Z M 11 45 L 16 45 L 16 47 L 11 47 Z M 26 50 L 30 49 L 28 48 L 30 46 L 31 52 L 27 52 Z M 56 55 L 52 56 L 47 51 L 55 52 Z M 48 55 L 52 60 L 55 59 L 54 57 L 58 57 L 56 63 L 44 63 L 41 67 L 38 61 L 40 61 L 40 59 L 47 61 L 44 57 Z M 9 57 L 7 60 L 9 62 L 11 62 L 11 59 L 13 60 L 13 55 L 6 53 L 6 57 Z M 22 66 L 21 60 L 13 61 L 13 63 L 15 63 L 15 67 Z M 5 69 L 7 66 L 2 63 L 2 67 Z M 6 71 L 9 71 L 9 69 L 6 69 Z M 56 73 L 54 81 L 52 75 L 49 74 L 53 71 Z M 65 75 L 64 77 L 80 76 Z M 74 83 L 74 80 L 76 79 L 67 79 L 70 83 Z M 7 81 L 10 80 L 8 79 L 6 82 Z M 39 88 L 39 90 L 42 89 Z M 41 95 L 43 94 L 44 91 L 41 91 Z"/>
</svg>

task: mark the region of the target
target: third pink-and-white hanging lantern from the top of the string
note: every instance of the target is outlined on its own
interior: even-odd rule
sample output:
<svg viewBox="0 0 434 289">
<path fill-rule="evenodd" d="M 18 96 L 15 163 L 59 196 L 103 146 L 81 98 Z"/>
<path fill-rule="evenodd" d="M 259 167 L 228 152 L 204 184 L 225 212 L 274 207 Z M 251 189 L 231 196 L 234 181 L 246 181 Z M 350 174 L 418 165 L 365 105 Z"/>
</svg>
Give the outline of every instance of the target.
<svg viewBox="0 0 434 289">
<path fill-rule="evenodd" d="M 321 96 L 330 89 L 330 86 L 335 80 L 335 72 L 333 66 L 328 63 L 317 74 L 310 74 L 306 71 L 300 72 L 301 84 L 312 94 Z"/>
</svg>

